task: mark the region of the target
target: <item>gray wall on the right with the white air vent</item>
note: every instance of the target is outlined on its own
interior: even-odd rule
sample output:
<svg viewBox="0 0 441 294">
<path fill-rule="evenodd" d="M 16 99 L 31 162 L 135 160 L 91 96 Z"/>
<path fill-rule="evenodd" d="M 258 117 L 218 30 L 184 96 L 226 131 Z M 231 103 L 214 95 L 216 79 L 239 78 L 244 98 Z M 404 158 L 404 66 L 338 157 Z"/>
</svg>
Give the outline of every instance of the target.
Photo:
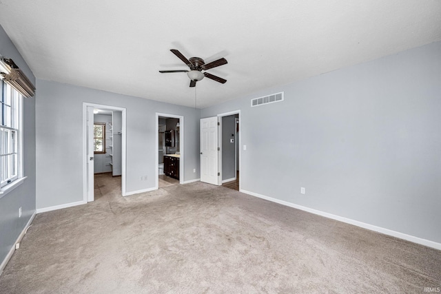
<svg viewBox="0 0 441 294">
<path fill-rule="evenodd" d="M 280 91 L 285 101 L 250 107 Z M 243 96 L 201 117 L 236 109 L 247 145 L 241 189 L 441 242 L 441 42 Z"/>
</svg>

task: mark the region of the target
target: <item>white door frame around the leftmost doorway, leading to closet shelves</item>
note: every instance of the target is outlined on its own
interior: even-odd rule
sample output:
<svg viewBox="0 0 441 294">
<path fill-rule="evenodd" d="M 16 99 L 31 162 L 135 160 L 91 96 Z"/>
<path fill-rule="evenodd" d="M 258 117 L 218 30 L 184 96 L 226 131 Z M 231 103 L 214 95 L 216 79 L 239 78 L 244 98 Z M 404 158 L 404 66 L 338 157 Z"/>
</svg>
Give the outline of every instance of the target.
<svg viewBox="0 0 441 294">
<path fill-rule="evenodd" d="M 125 191 L 125 170 L 126 170 L 126 158 L 127 158 L 127 109 L 123 107 L 117 107 L 112 105 L 103 105 L 96 103 L 83 102 L 83 201 L 85 203 L 94 201 L 94 199 L 88 199 L 88 189 L 94 189 L 94 187 L 88 187 L 88 107 L 114 110 L 122 112 L 122 131 L 121 136 L 121 194 L 126 196 Z"/>
</svg>

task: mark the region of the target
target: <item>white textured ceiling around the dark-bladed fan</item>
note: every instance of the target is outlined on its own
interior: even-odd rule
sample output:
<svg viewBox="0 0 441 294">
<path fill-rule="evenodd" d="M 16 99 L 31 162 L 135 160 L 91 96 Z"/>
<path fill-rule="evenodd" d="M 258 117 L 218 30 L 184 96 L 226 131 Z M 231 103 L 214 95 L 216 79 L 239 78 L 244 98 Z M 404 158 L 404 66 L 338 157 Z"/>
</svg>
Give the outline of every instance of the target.
<svg viewBox="0 0 441 294">
<path fill-rule="evenodd" d="M 0 0 L 0 24 L 37 78 L 191 107 L 170 49 L 225 57 L 203 108 L 440 41 L 441 1 Z"/>
</svg>

